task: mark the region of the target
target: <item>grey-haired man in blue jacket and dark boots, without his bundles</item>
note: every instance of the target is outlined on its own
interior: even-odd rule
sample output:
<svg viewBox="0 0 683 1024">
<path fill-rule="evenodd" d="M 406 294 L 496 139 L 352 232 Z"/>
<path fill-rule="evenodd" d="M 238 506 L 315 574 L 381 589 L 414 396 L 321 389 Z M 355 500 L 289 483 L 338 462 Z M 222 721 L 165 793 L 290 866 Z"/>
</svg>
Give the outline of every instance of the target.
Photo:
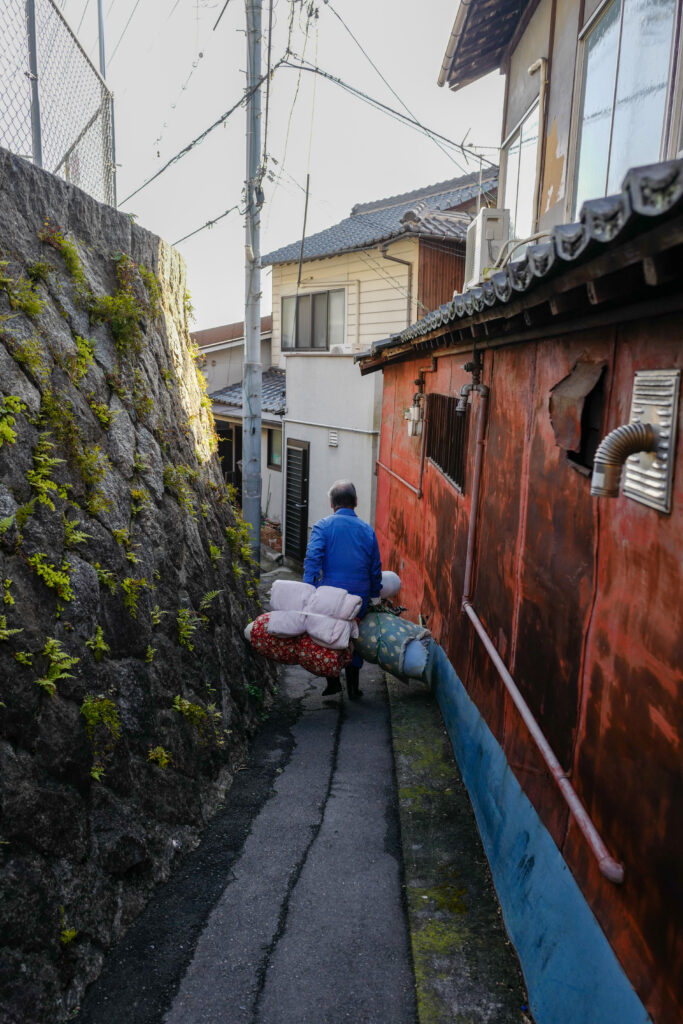
<svg viewBox="0 0 683 1024">
<path fill-rule="evenodd" d="M 304 583 L 314 587 L 341 587 L 349 594 L 362 598 L 360 615 L 365 615 L 371 598 L 379 597 L 382 589 L 382 561 L 375 530 L 355 514 L 358 504 L 355 487 L 350 480 L 337 480 L 328 497 L 333 514 L 319 519 L 313 526 L 303 562 Z M 344 670 L 350 700 L 362 696 L 358 676 L 362 658 L 353 655 Z M 328 676 L 324 696 L 341 692 L 337 676 Z"/>
</svg>

